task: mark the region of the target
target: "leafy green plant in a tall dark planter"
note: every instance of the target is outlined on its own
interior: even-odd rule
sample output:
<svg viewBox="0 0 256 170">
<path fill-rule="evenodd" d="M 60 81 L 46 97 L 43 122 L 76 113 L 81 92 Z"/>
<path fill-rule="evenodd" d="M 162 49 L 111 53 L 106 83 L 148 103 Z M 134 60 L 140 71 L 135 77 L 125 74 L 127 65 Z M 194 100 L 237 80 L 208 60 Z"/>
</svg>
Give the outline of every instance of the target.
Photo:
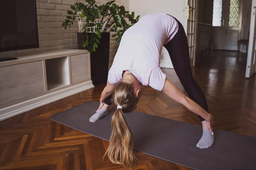
<svg viewBox="0 0 256 170">
<path fill-rule="evenodd" d="M 110 32 L 114 32 L 112 37 L 116 37 L 116 44 L 119 45 L 123 33 L 137 23 L 140 16 L 135 17 L 134 12 L 129 14 L 124 6 L 117 6 L 115 0 L 100 6 L 95 0 L 86 2 L 71 5 L 72 11 L 67 11 L 69 15 L 62 26 L 66 29 L 78 18 L 78 48 L 90 52 L 91 79 L 96 85 L 106 83 L 108 79 Z"/>
</svg>

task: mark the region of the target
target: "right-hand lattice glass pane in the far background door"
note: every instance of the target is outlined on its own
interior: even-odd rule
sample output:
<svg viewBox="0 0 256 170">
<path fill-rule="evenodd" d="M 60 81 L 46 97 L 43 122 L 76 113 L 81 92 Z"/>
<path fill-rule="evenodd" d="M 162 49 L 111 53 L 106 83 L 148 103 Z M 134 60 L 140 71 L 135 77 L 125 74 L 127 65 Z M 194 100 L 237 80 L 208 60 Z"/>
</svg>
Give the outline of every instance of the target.
<svg viewBox="0 0 256 170">
<path fill-rule="evenodd" d="M 230 0 L 230 17 L 228 26 L 237 27 L 239 24 L 239 0 Z"/>
</svg>

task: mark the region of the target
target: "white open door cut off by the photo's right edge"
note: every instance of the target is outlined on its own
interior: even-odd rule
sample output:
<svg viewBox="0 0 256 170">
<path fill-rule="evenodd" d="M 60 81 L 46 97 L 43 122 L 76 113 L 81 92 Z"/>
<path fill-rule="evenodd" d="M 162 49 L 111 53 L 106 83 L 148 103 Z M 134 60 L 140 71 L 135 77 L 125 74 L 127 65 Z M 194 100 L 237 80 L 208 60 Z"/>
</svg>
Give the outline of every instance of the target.
<svg viewBox="0 0 256 170">
<path fill-rule="evenodd" d="M 252 2 L 252 13 L 250 21 L 250 37 L 245 77 L 250 78 L 256 73 L 256 24 L 255 24 L 256 0 Z"/>
</svg>

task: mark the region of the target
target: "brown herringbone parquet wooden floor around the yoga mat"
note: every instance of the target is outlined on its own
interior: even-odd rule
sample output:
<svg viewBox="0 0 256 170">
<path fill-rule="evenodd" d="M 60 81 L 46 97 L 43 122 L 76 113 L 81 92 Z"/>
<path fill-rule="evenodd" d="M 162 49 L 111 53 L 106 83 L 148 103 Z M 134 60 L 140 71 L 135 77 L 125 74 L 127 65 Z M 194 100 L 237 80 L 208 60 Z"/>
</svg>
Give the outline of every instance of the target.
<svg viewBox="0 0 256 170">
<path fill-rule="evenodd" d="M 216 129 L 256 136 L 256 76 L 244 79 L 246 55 L 215 51 L 193 68 Z M 184 91 L 172 69 L 163 69 Z M 108 142 L 52 122 L 50 116 L 98 101 L 104 86 L 61 99 L 0 122 L 0 170 L 124 170 L 102 156 Z M 137 111 L 200 125 L 198 117 L 165 94 L 145 87 Z M 196 144 L 196 143 L 195 143 Z M 175 153 L 172 153 L 175 154 Z M 189 170 L 136 152 L 136 170 Z"/>
</svg>

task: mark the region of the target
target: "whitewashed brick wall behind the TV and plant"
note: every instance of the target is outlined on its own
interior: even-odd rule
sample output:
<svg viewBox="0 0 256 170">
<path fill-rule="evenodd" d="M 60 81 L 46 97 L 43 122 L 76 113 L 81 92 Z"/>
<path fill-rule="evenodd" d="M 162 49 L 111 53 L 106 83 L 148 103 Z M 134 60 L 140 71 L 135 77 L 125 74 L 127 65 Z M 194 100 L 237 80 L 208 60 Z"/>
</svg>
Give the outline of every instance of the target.
<svg viewBox="0 0 256 170">
<path fill-rule="evenodd" d="M 86 3 L 85 0 L 80 1 Z M 96 0 L 96 3 L 100 5 L 108 1 L 110 0 Z M 77 48 L 76 32 L 78 32 L 78 24 L 74 23 L 71 28 L 66 30 L 61 27 L 61 23 L 66 19 L 67 10 L 75 2 L 76 0 L 37 0 L 39 48 L 1 52 L 0 57 L 33 51 Z M 129 10 L 129 0 L 116 0 L 115 3 L 119 6 L 123 5 L 126 10 Z M 111 38 L 110 65 L 113 62 L 116 50 L 116 42 Z"/>
</svg>

